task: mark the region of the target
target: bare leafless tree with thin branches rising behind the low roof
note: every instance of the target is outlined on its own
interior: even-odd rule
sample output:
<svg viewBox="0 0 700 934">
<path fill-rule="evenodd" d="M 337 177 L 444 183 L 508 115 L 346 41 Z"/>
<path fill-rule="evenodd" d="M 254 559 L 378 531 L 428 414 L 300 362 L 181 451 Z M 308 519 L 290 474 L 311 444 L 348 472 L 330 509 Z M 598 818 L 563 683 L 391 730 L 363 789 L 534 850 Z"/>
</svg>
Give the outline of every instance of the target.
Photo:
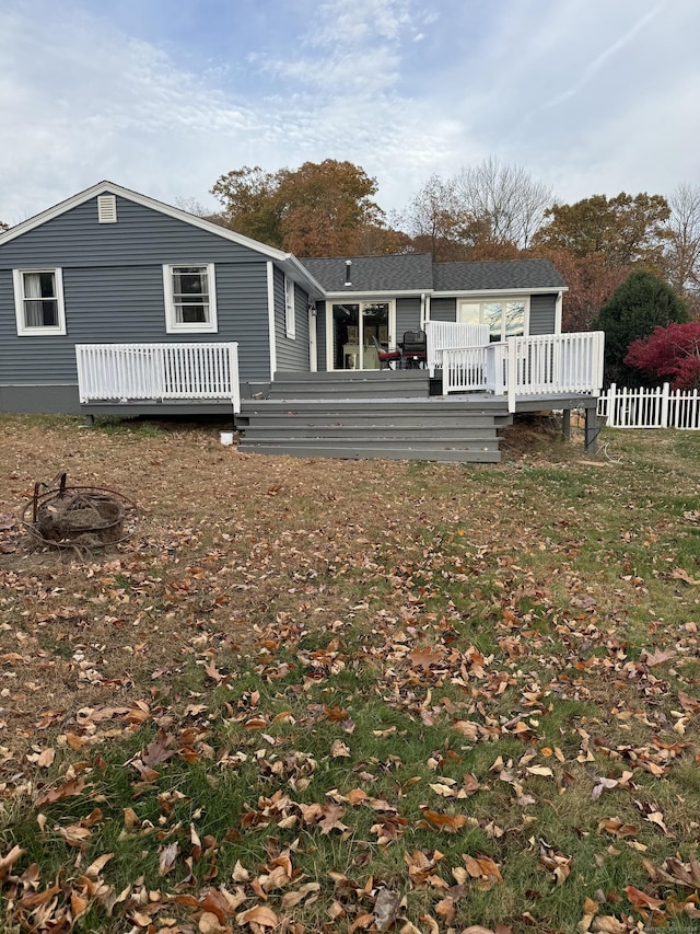
<svg viewBox="0 0 700 934">
<path fill-rule="evenodd" d="M 525 250 L 553 203 L 551 188 L 494 157 L 464 168 L 454 185 L 467 218 L 463 237 L 475 246 L 510 243 Z"/>
</svg>

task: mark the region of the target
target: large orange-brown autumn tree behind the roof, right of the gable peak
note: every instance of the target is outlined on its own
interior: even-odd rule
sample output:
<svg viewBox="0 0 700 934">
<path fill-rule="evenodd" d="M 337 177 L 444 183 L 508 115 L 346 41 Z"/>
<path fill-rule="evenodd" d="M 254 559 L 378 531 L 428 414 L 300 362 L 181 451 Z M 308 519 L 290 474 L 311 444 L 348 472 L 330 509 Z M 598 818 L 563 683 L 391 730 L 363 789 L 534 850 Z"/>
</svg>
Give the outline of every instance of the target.
<svg viewBox="0 0 700 934">
<path fill-rule="evenodd" d="M 395 232 L 373 200 L 376 191 L 363 169 L 334 159 L 277 172 L 244 166 L 211 189 L 228 227 L 299 256 L 352 255 L 368 242 L 390 252 Z"/>
</svg>

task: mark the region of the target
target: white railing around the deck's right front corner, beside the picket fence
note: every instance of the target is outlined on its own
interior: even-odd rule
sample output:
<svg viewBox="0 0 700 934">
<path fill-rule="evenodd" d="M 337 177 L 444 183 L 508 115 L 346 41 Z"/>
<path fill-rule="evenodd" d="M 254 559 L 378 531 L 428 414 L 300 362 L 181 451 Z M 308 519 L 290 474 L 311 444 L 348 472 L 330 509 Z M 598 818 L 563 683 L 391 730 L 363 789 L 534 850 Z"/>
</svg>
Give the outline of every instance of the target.
<svg viewBox="0 0 700 934">
<path fill-rule="evenodd" d="M 486 347 L 443 348 L 443 394 L 487 391 L 508 395 L 509 412 L 524 395 L 598 395 L 602 331 L 509 337 Z"/>
</svg>

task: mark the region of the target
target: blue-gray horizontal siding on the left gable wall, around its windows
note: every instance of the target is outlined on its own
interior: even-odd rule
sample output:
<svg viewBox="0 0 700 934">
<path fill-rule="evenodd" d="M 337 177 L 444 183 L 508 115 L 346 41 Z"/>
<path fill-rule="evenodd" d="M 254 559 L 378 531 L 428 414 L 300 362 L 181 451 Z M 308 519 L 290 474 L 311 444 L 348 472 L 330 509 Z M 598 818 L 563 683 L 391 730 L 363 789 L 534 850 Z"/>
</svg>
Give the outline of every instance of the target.
<svg viewBox="0 0 700 934">
<path fill-rule="evenodd" d="M 235 341 L 244 393 L 269 379 L 268 257 L 124 198 L 117 212 L 98 224 L 93 198 L 0 247 L 0 385 L 44 385 L 25 411 L 50 411 L 54 388 L 78 382 L 75 344 L 90 343 Z M 166 333 L 163 265 L 177 263 L 214 263 L 217 333 Z M 66 335 L 16 333 L 12 269 L 33 267 L 62 269 Z"/>
</svg>

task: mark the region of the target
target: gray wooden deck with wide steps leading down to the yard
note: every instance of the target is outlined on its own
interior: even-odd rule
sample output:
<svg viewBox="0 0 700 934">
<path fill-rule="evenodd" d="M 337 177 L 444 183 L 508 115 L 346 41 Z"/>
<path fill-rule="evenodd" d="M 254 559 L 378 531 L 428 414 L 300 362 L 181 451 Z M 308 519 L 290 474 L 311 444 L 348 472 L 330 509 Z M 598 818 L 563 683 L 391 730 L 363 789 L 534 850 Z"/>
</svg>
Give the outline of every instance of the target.
<svg viewBox="0 0 700 934">
<path fill-rule="evenodd" d="M 499 431 L 513 420 L 508 396 L 444 396 L 440 385 L 427 370 L 280 373 L 267 397 L 242 402 L 236 416 L 244 433 L 240 449 L 295 457 L 498 463 Z M 583 405 L 586 424 L 593 426 L 595 404 L 591 396 L 532 395 L 518 400 L 517 411 L 569 412 Z"/>
</svg>

